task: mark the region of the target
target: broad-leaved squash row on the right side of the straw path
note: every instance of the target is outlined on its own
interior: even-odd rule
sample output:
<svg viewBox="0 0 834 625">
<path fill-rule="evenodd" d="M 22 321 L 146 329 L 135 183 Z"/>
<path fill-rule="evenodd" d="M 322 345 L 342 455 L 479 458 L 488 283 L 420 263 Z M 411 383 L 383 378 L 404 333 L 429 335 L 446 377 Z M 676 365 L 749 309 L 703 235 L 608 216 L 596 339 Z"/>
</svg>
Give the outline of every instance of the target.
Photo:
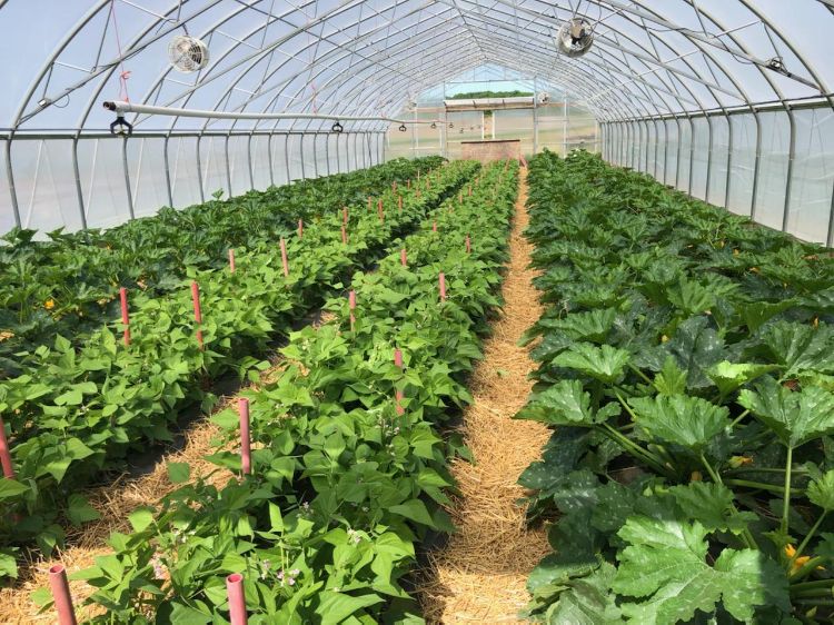
<svg viewBox="0 0 834 625">
<path fill-rule="evenodd" d="M 834 260 L 602 159 L 530 162 L 547 310 L 518 415 L 547 623 L 832 616 Z"/>
</svg>

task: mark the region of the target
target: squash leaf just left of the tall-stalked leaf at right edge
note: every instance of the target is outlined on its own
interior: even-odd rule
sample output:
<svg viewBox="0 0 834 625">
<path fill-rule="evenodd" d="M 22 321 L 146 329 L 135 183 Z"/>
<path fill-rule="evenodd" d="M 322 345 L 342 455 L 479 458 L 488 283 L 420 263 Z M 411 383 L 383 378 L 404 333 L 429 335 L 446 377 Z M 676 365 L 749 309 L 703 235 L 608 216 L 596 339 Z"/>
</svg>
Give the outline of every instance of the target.
<svg viewBox="0 0 834 625">
<path fill-rule="evenodd" d="M 699 453 L 729 426 L 729 410 L 688 395 L 658 395 L 629 400 L 637 424 L 653 440 Z"/>
</svg>

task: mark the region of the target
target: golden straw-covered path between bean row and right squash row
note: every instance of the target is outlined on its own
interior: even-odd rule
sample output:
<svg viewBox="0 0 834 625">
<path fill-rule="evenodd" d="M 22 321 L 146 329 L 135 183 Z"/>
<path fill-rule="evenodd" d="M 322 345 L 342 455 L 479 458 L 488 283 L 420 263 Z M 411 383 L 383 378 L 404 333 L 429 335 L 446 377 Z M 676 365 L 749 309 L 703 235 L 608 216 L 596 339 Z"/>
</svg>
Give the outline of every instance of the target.
<svg viewBox="0 0 834 625">
<path fill-rule="evenodd" d="M 525 404 L 534 365 L 518 340 L 539 317 L 538 294 L 528 269 L 532 246 L 522 236 L 528 216 L 526 171 L 522 172 L 510 236 L 510 261 L 504 281 L 504 312 L 475 370 L 475 401 L 464 414 L 463 434 L 475 464 L 458 462 L 453 473 L 461 498 L 451 512 L 458 533 L 429 555 L 420 598 L 429 623 L 524 623 L 527 575 L 550 552 L 544 530 L 527 530 L 516 502 L 516 480 L 539 457 L 549 430 L 542 424 L 512 420 Z"/>
</svg>

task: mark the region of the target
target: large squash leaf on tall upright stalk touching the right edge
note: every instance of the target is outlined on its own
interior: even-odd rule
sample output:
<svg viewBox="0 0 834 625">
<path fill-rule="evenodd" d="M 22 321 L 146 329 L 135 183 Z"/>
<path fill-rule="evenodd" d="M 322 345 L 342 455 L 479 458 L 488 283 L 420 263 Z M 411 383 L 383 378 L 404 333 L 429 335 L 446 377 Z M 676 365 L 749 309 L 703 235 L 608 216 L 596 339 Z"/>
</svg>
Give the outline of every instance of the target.
<svg viewBox="0 0 834 625">
<path fill-rule="evenodd" d="M 744 389 L 738 403 L 770 427 L 788 447 L 834 433 L 834 394 L 817 387 L 796 393 L 773 378 Z"/>
</svg>

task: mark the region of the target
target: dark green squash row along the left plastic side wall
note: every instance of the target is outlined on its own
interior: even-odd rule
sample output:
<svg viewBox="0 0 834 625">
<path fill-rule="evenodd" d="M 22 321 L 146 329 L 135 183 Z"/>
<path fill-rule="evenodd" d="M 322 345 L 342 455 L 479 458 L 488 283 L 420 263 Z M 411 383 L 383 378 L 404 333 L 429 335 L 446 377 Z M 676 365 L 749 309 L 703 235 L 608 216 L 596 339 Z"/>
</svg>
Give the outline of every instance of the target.
<svg viewBox="0 0 834 625">
<path fill-rule="evenodd" d="M 21 373 L 26 358 L 56 334 L 75 345 L 118 315 L 119 287 L 158 297 L 177 289 L 187 269 L 222 267 L 229 248 L 286 237 L 342 206 L 365 205 L 397 182 L 405 186 L 441 159 L 398 159 L 370 169 L 305 180 L 266 191 L 157 215 L 110 230 L 13 230 L 0 246 L 0 378 Z"/>
</svg>

